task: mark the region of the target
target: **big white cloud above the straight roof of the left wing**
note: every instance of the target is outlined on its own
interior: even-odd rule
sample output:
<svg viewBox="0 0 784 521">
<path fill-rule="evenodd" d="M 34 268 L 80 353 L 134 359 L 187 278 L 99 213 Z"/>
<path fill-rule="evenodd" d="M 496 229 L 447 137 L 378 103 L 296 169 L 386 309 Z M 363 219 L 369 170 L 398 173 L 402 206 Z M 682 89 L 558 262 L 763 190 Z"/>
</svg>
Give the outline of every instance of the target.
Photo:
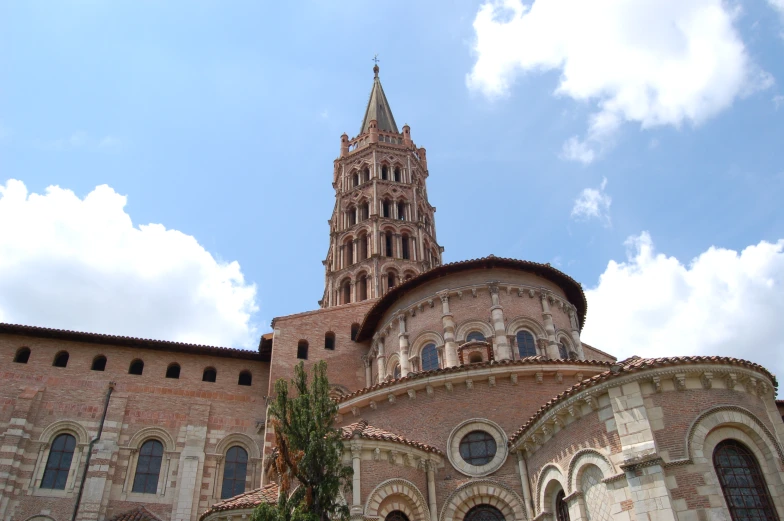
<svg viewBox="0 0 784 521">
<path fill-rule="evenodd" d="M 194 237 L 134 226 L 106 185 L 84 199 L 0 184 L 0 321 L 252 346 L 256 287 Z"/>
</svg>

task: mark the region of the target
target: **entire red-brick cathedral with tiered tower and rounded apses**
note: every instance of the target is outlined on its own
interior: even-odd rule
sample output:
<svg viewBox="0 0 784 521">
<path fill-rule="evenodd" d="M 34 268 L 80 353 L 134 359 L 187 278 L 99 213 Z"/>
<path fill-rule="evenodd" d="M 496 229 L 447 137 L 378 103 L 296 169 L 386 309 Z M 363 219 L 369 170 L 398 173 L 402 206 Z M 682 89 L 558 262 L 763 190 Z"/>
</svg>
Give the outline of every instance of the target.
<svg viewBox="0 0 784 521">
<path fill-rule="evenodd" d="M 582 341 L 560 270 L 444 264 L 429 175 L 376 66 L 333 164 L 317 309 L 251 351 L 0 324 L 0 521 L 249 521 L 278 495 L 274 382 L 321 360 L 354 520 L 784 519 L 773 374 L 617 360 Z"/>
</svg>

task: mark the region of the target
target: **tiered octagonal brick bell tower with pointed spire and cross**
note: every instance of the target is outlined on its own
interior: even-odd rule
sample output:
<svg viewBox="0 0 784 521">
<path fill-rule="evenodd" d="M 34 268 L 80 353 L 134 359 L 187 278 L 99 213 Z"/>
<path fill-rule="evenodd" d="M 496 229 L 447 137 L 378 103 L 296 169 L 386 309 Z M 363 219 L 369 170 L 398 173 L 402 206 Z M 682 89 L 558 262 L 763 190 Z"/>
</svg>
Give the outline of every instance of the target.
<svg viewBox="0 0 784 521">
<path fill-rule="evenodd" d="M 381 297 L 441 264 L 425 149 L 408 125 L 398 131 L 378 71 L 359 134 L 340 136 L 323 308 Z"/>
</svg>

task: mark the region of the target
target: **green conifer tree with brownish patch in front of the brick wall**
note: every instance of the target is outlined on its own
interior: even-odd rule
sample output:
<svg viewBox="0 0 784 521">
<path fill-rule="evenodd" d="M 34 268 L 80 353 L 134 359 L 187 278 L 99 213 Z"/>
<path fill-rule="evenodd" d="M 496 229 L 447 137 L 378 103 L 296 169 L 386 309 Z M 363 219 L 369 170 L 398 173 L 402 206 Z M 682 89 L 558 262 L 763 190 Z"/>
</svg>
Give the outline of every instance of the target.
<svg viewBox="0 0 784 521">
<path fill-rule="evenodd" d="M 341 431 L 333 427 L 337 404 L 329 397 L 327 364 L 313 367 L 313 382 L 302 362 L 290 382 L 275 382 L 269 407 L 275 431 L 273 462 L 278 474 L 277 505 L 260 505 L 252 521 L 346 521 L 340 492 L 349 490 L 353 470 L 341 462 Z M 297 483 L 298 487 L 293 485 Z M 291 489 L 294 488 L 294 492 Z"/>
</svg>

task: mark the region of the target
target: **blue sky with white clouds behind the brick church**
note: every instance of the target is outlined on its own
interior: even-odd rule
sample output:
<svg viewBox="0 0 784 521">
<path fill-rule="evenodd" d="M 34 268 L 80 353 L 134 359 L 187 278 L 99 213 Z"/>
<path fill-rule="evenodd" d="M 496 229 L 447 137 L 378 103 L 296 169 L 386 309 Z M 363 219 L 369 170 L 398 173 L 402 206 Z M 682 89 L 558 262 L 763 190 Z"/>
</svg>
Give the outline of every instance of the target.
<svg viewBox="0 0 784 521">
<path fill-rule="evenodd" d="M 315 308 L 334 203 L 332 161 L 340 135 L 359 130 L 378 53 L 398 124 L 408 123 L 428 150 L 445 261 L 492 253 L 551 262 L 597 291 L 602 274 L 620 277 L 615 290 L 596 295 L 596 311 L 589 301 L 587 327 L 594 319 L 602 325 L 593 342 L 607 349 L 628 343 L 622 337 L 631 331 L 607 332 L 618 320 L 634 321 L 641 339 L 650 336 L 643 326 L 713 330 L 716 321 L 738 322 L 705 344 L 696 335 L 699 345 L 678 352 L 731 352 L 748 338 L 741 332 L 748 320 L 761 321 L 764 338 L 775 321 L 765 313 L 784 311 L 784 6 L 641 0 L 626 9 L 603 0 L 565 9 L 570 4 L 580 5 L 4 2 L 0 187 L 7 208 L 9 180 L 23 187 L 15 185 L 17 210 L 0 211 L 0 230 L 17 233 L 3 250 L 17 260 L 0 280 L 7 295 L 0 318 L 252 347 L 247 339 L 266 331 L 272 317 Z M 635 23 L 652 29 L 632 34 Z M 693 49 L 703 54 L 688 55 Z M 703 69 L 710 70 L 688 81 Z M 687 89 L 693 96 L 682 95 Z M 664 108 L 639 99 L 648 95 L 665 100 Z M 21 208 L 29 203 L 24 211 L 40 215 L 33 194 L 43 197 L 53 185 L 65 191 L 62 206 L 50 205 L 48 224 L 26 228 Z M 144 281 L 157 279 L 135 267 L 113 271 L 121 260 L 101 268 L 106 281 L 96 283 L 96 264 L 80 255 L 105 243 L 41 253 L 40 244 L 57 237 L 57 223 L 99 185 L 108 185 L 101 192 L 107 205 L 135 230 L 156 223 L 181 232 L 162 249 L 142 240 L 133 246 L 140 258 L 208 253 L 214 262 L 195 272 L 221 272 L 216 284 L 230 279 L 240 292 L 255 285 L 254 294 L 224 295 L 241 301 L 233 308 L 215 307 L 223 318 L 241 315 L 226 318 L 240 333 L 189 336 L 198 327 L 182 317 L 188 306 L 176 296 L 196 297 L 187 289 L 147 295 Z M 101 220 L 100 212 L 86 215 L 85 222 Z M 94 236 L 88 224 L 62 226 L 86 234 L 79 239 L 85 245 Z M 20 238 L 38 246 L 21 246 Z M 172 246 L 180 240 L 182 247 Z M 151 256 L 139 253 L 148 247 Z M 749 247 L 757 249 L 744 260 Z M 726 263 L 709 262 L 711 251 L 724 252 Z M 47 258 L 70 260 L 47 265 Z M 227 279 L 221 270 L 232 262 L 239 266 Z M 657 263 L 670 270 L 660 273 Z M 74 265 L 90 269 L 76 276 Z M 623 283 L 624 276 L 640 285 Z M 52 289 L 69 277 L 67 290 Z M 194 277 L 183 280 L 201 280 Z M 703 280 L 717 282 L 700 286 Z M 662 285 L 676 290 L 662 296 Z M 110 288 L 122 305 L 106 296 Z M 625 302 L 649 300 L 665 315 L 717 308 L 682 326 L 659 311 L 646 315 L 644 304 L 631 307 L 634 316 L 617 314 Z M 733 309 L 751 300 L 768 311 L 737 319 Z M 133 320 L 146 316 L 145 306 L 163 317 L 158 327 Z M 84 310 L 94 307 L 106 316 L 90 318 Z M 784 349 L 779 342 L 776 351 Z"/>
</svg>

